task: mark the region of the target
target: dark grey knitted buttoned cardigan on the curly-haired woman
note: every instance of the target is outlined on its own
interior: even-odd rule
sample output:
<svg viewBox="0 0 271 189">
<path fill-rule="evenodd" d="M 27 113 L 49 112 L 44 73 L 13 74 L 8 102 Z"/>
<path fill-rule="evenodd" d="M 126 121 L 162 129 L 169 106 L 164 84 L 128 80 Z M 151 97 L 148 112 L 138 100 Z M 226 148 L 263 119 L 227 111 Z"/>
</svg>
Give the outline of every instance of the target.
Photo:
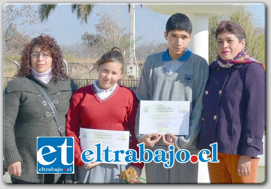
<svg viewBox="0 0 271 189">
<path fill-rule="evenodd" d="M 71 79 L 57 83 L 34 79 L 55 102 L 60 122 L 65 127 L 70 98 L 77 90 L 76 84 Z M 36 171 L 37 137 L 60 137 L 50 112 L 49 104 L 28 78 L 17 76 L 8 82 L 4 91 L 4 163 L 7 167 L 13 162 L 22 162 L 21 176 L 13 177 L 44 183 L 44 175 Z M 55 181 L 60 176 L 56 174 Z"/>
</svg>

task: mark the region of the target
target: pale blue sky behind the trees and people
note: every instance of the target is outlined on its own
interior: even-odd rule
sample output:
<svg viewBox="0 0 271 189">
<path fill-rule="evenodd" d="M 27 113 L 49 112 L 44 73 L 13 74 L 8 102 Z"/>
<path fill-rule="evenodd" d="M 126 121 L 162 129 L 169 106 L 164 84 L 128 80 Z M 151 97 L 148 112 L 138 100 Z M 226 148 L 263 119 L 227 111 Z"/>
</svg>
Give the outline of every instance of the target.
<svg viewBox="0 0 271 189">
<path fill-rule="evenodd" d="M 127 28 L 129 32 L 129 13 L 128 5 L 126 3 L 122 4 L 99 4 L 94 7 L 93 13 L 89 17 L 88 25 L 80 25 L 79 20 L 75 14 L 71 13 L 70 4 L 59 4 L 55 11 L 49 16 L 48 21 L 45 24 L 37 24 L 35 26 L 30 26 L 29 30 L 40 31 L 43 29 L 49 29 L 46 34 L 51 34 L 55 37 L 58 44 L 68 44 L 79 42 L 81 36 L 85 32 L 95 33 L 94 25 L 99 22 L 100 16 L 97 16 L 97 13 L 100 13 L 114 6 L 115 9 L 119 7 L 120 15 L 122 17 L 121 26 Z M 262 27 L 265 27 L 265 6 L 264 4 L 252 4 L 248 6 L 255 18 L 259 21 L 259 24 Z M 168 20 L 170 15 L 164 15 L 156 13 L 144 6 L 142 8 L 139 4 L 135 6 L 135 33 L 136 38 L 138 36 L 143 36 L 142 41 L 157 41 L 163 42 L 163 31 L 165 28 L 165 23 Z M 20 22 L 17 20 L 17 22 Z"/>
</svg>

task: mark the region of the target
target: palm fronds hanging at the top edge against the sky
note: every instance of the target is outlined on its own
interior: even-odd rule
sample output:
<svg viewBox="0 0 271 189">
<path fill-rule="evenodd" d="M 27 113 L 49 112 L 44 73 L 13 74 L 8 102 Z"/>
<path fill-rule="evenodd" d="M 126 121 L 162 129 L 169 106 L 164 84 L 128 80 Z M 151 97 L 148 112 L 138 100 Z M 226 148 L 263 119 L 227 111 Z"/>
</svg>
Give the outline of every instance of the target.
<svg viewBox="0 0 271 189">
<path fill-rule="evenodd" d="M 72 4 L 72 13 L 76 13 L 77 19 L 80 20 L 80 24 L 88 24 L 88 17 L 92 13 L 93 7 L 96 4 Z M 38 16 L 41 23 L 45 23 L 48 20 L 49 14 L 53 12 L 57 4 L 40 4 L 38 5 Z"/>
</svg>

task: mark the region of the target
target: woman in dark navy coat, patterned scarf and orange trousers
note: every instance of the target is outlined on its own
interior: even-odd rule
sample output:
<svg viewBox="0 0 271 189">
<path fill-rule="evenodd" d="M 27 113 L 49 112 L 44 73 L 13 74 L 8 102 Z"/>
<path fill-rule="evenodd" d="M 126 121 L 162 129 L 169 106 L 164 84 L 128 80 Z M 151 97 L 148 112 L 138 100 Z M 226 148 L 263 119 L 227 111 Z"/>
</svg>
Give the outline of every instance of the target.
<svg viewBox="0 0 271 189">
<path fill-rule="evenodd" d="M 245 32 L 231 21 L 216 29 L 218 58 L 203 97 L 199 149 L 217 142 L 211 183 L 255 183 L 265 127 L 265 66 L 245 49 Z"/>
</svg>

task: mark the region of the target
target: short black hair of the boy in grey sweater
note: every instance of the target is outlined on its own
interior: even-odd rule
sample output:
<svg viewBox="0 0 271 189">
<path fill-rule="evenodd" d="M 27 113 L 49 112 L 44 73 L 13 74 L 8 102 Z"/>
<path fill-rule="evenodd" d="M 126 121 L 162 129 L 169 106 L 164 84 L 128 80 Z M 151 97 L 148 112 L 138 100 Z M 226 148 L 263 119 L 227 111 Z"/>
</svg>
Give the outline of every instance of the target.
<svg viewBox="0 0 271 189">
<path fill-rule="evenodd" d="M 165 32 L 169 34 L 172 30 L 184 30 L 190 35 L 192 33 L 192 23 L 189 17 L 182 13 L 173 14 L 165 25 Z"/>
</svg>

